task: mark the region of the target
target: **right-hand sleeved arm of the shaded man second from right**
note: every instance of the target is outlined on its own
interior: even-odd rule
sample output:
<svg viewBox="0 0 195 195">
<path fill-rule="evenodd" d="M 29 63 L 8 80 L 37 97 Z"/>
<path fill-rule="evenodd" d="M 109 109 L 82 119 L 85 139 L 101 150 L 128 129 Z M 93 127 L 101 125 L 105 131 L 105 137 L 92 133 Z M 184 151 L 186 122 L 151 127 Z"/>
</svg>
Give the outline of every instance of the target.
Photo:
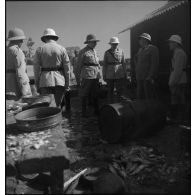
<svg viewBox="0 0 195 195">
<path fill-rule="evenodd" d="M 156 78 L 159 66 L 159 52 L 157 48 L 151 50 L 151 66 L 147 79 Z"/>
</svg>

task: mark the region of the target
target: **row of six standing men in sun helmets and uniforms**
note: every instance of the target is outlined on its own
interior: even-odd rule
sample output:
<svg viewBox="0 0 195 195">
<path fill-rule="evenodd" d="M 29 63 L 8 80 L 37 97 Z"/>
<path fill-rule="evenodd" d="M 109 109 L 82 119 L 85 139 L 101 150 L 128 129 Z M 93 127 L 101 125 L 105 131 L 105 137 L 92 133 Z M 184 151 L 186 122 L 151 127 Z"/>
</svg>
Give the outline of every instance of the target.
<svg viewBox="0 0 195 195">
<path fill-rule="evenodd" d="M 24 32 L 15 28 L 9 31 L 6 51 L 6 93 L 12 94 L 16 100 L 31 96 L 29 78 L 26 71 L 25 56 L 21 45 L 25 39 Z M 56 41 L 59 37 L 53 29 L 46 29 L 41 40 L 42 47 L 36 50 L 34 57 L 35 84 L 40 94 L 53 94 L 55 104 L 61 107 L 65 94 L 70 90 L 70 60 L 66 49 Z M 169 79 L 173 111 L 183 108 L 185 103 L 185 85 L 187 83 L 187 57 L 182 49 L 182 40 L 178 35 L 169 38 L 169 47 L 172 50 L 172 68 Z M 114 88 L 117 96 L 123 93 L 127 71 L 124 52 L 118 47 L 119 39 L 110 39 L 110 49 L 104 54 L 103 70 L 95 50 L 99 40 L 95 35 L 86 37 L 86 47 L 75 53 L 74 74 L 78 86 L 81 88 L 82 114 L 87 116 L 87 100 L 93 100 L 94 113 L 98 115 L 98 84 L 101 75 L 108 85 L 108 99 L 113 101 Z M 158 76 L 159 51 L 151 44 L 151 36 L 143 33 L 139 36 L 140 49 L 135 56 L 137 98 L 156 98 L 156 79 Z M 67 100 L 68 101 L 68 100 Z M 67 108 L 70 110 L 70 104 Z"/>
</svg>

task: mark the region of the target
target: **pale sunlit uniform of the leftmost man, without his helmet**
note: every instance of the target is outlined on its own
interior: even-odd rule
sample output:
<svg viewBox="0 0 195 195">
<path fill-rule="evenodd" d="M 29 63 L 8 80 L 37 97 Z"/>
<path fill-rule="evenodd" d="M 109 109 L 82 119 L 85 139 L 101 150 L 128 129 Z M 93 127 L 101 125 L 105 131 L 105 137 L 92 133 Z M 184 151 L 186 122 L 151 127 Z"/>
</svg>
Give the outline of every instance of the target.
<svg viewBox="0 0 195 195">
<path fill-rule="evenodd" d="M 6 93 L 15 95 L 16 100 L 32 95 L 24 53 L 11 44 L 6 48 Z"/>
</svg>

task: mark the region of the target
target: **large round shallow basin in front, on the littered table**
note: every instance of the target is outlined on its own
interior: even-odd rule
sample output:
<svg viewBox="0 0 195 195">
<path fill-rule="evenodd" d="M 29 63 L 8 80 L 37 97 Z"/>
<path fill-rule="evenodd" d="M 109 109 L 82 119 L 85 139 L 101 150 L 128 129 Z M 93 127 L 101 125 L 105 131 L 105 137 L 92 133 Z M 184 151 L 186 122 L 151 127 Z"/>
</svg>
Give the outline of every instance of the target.
<svg viewBox="0 0 195 195">
<path fill-rule="evenodd" d="M 15 115 L 19 129 L 40 131 L 58 126 L 62 121 L 61 110 L 54 107 L 40 107 L 22 111 Z"/>
</svg>

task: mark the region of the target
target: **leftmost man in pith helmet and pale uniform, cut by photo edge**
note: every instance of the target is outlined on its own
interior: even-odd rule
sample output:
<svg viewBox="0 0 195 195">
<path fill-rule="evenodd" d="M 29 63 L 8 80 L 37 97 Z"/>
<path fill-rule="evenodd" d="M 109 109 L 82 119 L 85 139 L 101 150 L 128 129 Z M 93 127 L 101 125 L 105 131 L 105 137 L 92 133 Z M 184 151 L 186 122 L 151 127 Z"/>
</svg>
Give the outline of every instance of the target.
<svg viewBox="0 0 195 195">
<path fill-rule="evenodd" d="M 12 99 L 31 96 L 25 56 L 20 49 L 26 37 L 23 30 L 14 28 L 9 31 L 9 44 L 6 48 L 6 94 Z"/>
</svg>

